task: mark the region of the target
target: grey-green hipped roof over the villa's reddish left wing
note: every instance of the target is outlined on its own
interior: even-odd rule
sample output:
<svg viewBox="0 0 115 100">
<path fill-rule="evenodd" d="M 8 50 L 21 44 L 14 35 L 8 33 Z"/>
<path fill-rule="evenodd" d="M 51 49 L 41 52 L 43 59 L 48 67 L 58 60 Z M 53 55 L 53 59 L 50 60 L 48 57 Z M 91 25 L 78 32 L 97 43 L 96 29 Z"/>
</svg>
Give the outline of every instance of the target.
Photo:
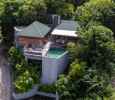
<svg viewBox="0 0 115 100">
<path fill-rule="evenodd" d="M 22 29 L 22 31 L 18 34 L 20 36 L 27 37 L 44 37 L 49 31 L 50 28 L 47 25 L 35 21 L 26 28 Z"/>
</svg>

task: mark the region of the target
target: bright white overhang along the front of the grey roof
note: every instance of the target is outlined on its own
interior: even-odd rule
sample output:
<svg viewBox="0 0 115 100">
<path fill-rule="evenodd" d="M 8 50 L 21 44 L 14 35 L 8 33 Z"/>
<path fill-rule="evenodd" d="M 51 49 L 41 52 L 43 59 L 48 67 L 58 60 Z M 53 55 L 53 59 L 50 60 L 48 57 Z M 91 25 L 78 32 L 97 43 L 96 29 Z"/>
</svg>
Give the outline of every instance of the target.
<svg viewBox="0 0 115 100">
<path fill-rule="evenodd" d="M 66 37 L 78 37 L 76 31 L 71 31 L 71 30 L 54 29 L 51 34 L 57 36 L 66 36 Z"/>
</svg>

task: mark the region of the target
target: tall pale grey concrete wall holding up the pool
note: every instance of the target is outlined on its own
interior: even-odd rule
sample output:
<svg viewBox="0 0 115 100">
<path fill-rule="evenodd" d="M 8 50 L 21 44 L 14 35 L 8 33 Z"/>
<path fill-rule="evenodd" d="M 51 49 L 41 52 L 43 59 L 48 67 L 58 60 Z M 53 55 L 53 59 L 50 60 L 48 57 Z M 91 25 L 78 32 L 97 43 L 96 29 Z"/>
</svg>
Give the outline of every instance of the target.
<svg viewBox="0 0 115 100">
<path fill-rule="evenodd" d="M 57 77 L 62 73 L 68 64 L 68 53 L 65 52 L 59 58 L 42 58 L 42 77 L 43 84 L 52 84 L 57 80 Z"/>
</svg>

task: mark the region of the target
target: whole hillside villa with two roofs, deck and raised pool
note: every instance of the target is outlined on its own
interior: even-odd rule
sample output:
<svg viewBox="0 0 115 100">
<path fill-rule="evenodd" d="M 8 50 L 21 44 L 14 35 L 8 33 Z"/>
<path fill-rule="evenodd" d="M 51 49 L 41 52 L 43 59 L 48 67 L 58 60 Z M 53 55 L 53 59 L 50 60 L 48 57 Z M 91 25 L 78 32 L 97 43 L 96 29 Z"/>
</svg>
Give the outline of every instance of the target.
<svg viewBox="0 0 115 100">
<path fill-rule="evenodd" d="M 27 27 L 15 27 L 15 43 L 27 59 L 42 62 L 43 84 L 52 84 L 68 65 L 66 44 L 77 41 L 77 22 L 61 20 L 55 28 L 38 21 Z"/>
</svg>

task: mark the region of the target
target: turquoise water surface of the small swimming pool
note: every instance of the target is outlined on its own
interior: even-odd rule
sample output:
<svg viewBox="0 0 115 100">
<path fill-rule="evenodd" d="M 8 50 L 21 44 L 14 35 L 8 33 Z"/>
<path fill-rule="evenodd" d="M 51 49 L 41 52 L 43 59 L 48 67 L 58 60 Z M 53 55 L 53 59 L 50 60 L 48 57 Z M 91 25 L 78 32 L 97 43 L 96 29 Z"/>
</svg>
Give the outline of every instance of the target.
<svg viewBox="0 0 115 100">
<path fill-rule="evenodd" d="M 51 48 L 48 53 L 47 56 L 49 58 L 58 58 L 60 57 L 63 53 L 65 52 L 64 49 L 61 48 Z"/>
</svg>

